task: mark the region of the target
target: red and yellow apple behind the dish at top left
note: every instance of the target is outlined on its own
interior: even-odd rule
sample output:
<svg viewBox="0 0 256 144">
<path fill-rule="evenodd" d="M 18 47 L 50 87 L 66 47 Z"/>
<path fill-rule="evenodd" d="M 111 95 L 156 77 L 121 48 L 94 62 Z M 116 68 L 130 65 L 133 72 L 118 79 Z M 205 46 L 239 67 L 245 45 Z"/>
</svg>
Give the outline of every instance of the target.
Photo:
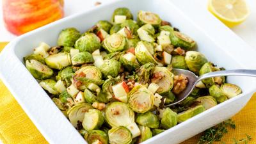
<svg viewBox="0 0 256 144">
<path fill-rule="evenodd" d="M 22 35 L 63 16 L 63 0 L 3 0 L 4 25 L 15 35 Z"/>
</svg>

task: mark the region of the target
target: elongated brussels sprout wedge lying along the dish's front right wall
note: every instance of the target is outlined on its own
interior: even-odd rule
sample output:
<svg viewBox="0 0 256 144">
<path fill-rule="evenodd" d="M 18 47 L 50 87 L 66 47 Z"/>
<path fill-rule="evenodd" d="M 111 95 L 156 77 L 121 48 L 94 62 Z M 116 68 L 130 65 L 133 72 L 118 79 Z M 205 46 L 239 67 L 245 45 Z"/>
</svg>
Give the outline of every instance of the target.
<svg viewBox="0 0 256 144">
<path fill-rule="evenodd" d="M 203 105 L 198 105 L 195 108 L 188 109 L 186 111 L 183 111 L 182 113 L 178 113 L 178 122 L 184 122 L 188 120 L 189 118 L 192 118 L 193 116 L 198 115 L 199 113 L 202 113 L 205 111 L 205 108 Z"/>
</svg>

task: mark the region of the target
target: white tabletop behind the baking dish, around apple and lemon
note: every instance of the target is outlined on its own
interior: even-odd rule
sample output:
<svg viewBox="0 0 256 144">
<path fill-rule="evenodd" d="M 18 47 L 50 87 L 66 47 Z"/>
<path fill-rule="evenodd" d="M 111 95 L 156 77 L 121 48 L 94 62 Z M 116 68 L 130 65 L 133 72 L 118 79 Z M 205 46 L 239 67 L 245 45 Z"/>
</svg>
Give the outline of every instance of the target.
<svg viewBox="0 0 256 144">
<path fill-rule="evenodd" d="M 109 1 L 116 1 L 116 0 L 99 0 L 99 2 L 108 3 Z M 186 1 L 188 0 L 180 0 Z M 199 1 L 201 6 L 205 7 L 205 12 L 207 11 L 207 0 L 193 0 Z M 74 13 L 83 12 L 88 8 L 92 8 L 97 2 L 97 0 L 65 0 L 65 16 L 72 15 Z M 256 1 L 255 0 L 246 0 L 248 7 L 250 9 L 250 15 L 246 21 L 237 26 L 236 28 L 232 28 L 234 33 L 239 35 L 245 42 L 256 49 Z M 8 32 L 4 28 L 3 23 L 3 12 L 2 12 L 2 1 L 0 1 L 0 42 L 8 42 L 15 38 L 15 35 Z M 243 49 L 243 47 L 241 47 Z M 1 141 L 0 141 L 1 144 Z"/>
</svg>

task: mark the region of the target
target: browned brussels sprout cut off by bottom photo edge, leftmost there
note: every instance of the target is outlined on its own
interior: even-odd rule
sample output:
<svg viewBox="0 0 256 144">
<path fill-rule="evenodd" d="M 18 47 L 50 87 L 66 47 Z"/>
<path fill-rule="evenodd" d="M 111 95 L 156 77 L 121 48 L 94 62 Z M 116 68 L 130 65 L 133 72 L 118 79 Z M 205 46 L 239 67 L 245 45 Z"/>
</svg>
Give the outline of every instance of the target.
<svg viewBox="0 0 256 144">
<path fill-rule="evenodd" d="M 108 134 L 104 131 L 92 130 L 85 134 L 84 137 L 89 144 L 108 144 Z"/>
</svg>

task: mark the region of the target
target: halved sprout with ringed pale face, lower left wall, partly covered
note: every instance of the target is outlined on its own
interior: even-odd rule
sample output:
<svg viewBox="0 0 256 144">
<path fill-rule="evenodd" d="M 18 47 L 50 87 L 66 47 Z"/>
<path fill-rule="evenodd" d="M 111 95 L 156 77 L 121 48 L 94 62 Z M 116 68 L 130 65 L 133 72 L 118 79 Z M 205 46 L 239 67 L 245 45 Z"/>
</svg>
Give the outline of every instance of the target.
<svg viewBox="0 0 256 144">
<path fill-rule="evenodd" d="M 93 109 L 90 104 L 77 104 L 68 110 L 68 119 L 74 127 L 77 127 L 77 122 L 83 122 L 84 113 Z"/>
</svg>

